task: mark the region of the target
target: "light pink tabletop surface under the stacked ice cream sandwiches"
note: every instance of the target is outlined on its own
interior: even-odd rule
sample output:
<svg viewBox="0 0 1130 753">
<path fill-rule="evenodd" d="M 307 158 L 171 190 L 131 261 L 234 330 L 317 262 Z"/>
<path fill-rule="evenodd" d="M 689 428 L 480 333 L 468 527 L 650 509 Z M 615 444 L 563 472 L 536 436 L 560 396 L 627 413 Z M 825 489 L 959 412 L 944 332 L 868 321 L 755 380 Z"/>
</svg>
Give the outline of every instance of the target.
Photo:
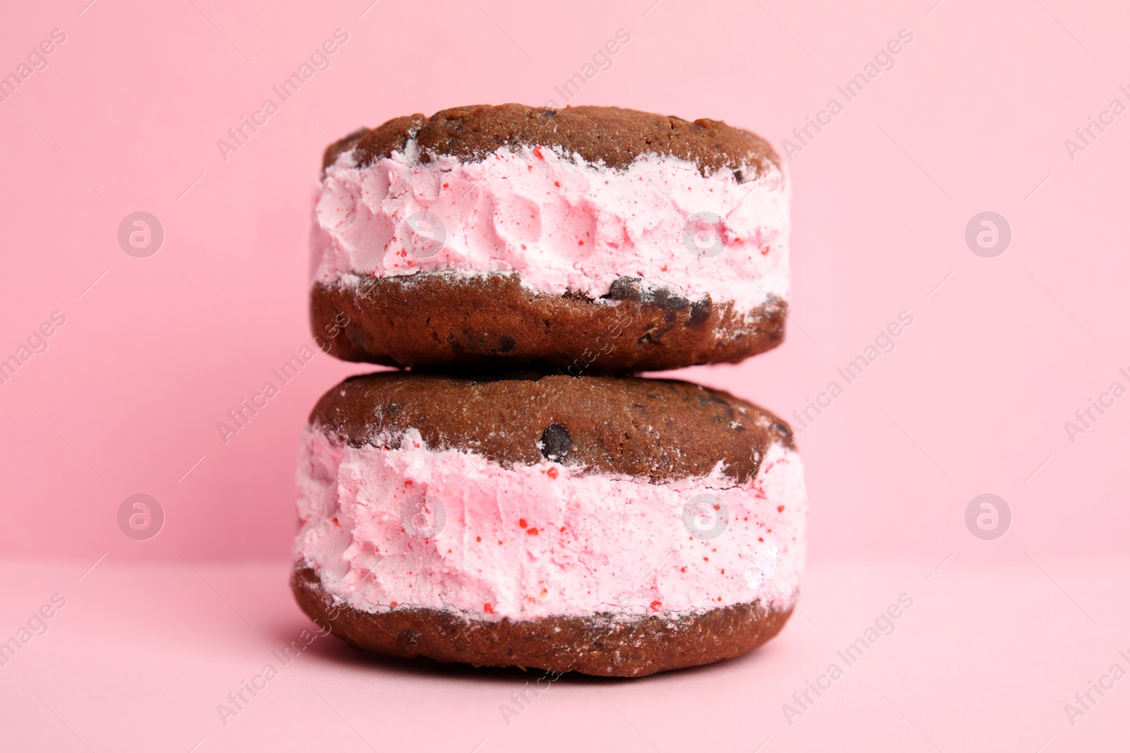
<svg viewBox="0 0 1130 753">
<path fill-rule="evenodd" d="M 1111 598 L 1130 588 L 1130 560 L 985 566 L 955 555 L 931 575 L 937 564 L 815 567 L 803 613 L 746 657 L 641 680 L 566 676 L 529 693 L 523 709 L 512 694 L 537 688 L 544 673 L 367 659 L 313 637 L 290 604 L 285 562 L 141 568 L 107 558 L 78 580 L 90 562 L 9 561 L 5 637 L 52 594 L 67 605 L 0 668 L 0 748 L 1125 750 L 1130 678 L 1092 692 L 1096 702 L 1074 726 L 1063 707 L 1113 664 L 1130 668 L 1119 654 L 1130 655 L 1130 608 Z M 884 620 L 892 605 L 898 616 Z M 869 629 L 873 642 L 849 665 L 840 653 Z M 308 648 L 292 649 L 297 658 L 284 666 L 275 653 L 304 630 Z M 225 725 L 217 706 L 267 664 L 278 676 L 257 697 L 245 692 L 250 703 Z M 842 676 L 822 681 L 832 664 Z M 782 707 L 799 708 L 793 693 L 809 681 L 831 688 L 810 691 L 815 702 L 790 725 Z"/>
</svg>

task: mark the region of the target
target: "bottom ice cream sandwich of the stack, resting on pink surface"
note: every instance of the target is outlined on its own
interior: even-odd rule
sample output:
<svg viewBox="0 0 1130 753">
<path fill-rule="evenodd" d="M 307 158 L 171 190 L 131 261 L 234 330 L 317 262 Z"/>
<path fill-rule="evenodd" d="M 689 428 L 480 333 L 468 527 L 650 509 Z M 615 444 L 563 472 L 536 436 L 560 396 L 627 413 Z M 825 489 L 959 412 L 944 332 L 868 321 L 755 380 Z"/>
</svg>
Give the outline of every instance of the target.
<svg viewBox="0 0 1130 753">
<path fill-rule="evenodd" d="M 634 676 L 784 624 L 803 564 L 788 426 L 686 382 L 347 379 L 311 414 L 294 590 L 360 648 Z"/>
</svg>

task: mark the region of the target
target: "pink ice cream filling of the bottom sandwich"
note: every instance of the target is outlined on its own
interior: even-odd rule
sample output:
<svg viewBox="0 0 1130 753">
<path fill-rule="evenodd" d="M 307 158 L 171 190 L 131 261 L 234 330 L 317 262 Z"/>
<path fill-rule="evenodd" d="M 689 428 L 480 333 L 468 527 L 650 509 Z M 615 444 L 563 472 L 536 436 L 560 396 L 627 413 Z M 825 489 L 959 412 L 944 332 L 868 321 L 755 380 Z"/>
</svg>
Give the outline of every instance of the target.
<svg viewBox="0 0 1130 753">
<path fill-rule="evenodd" d="M 789 608 L 805 560 L 798 454 L 773 445 L 736 484 L 721 467 L 667 483 L 467 450 L 351 447 L 306 429 L 295 559 L 339 605 L 477 620 L 677 616 Z M 689 502 L 689 505 L 688 505 Z"/>
</svg>

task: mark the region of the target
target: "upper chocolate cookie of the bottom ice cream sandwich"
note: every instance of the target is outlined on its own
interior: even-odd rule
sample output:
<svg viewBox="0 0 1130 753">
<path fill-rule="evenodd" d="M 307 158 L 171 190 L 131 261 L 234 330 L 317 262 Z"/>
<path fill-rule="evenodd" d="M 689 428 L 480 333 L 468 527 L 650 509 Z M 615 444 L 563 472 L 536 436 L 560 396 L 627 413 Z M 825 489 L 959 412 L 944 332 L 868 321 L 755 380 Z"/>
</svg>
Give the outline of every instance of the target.
<svg viewBox="0 0 1130 753">
<path fill-rule="evenodd" d="M 353 447 L 401 446 L 418 430 L 432 450 L 473 450 L 503 465 L 563 463 L 651 483 L 757 475 L 773 444 L 793 448 L 789 424 L 745 400 L 678 379 L 383 371 L 327 392 L 311 427 Z"/>
</svg>

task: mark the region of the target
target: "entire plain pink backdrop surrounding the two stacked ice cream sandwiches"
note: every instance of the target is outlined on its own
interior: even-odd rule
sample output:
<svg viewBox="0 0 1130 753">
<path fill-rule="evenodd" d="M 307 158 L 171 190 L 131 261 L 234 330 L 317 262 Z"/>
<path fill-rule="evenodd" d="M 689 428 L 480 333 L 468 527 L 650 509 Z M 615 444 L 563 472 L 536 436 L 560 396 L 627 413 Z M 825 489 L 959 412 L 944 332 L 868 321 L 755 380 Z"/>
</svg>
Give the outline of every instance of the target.
<svg viewBox="0 0 1130 753">
<path fill-rule="evenodd" d="M 310 340 L 306 242 L 327 139 L 457 104 L 563 104 L 554 86 L 619 28 L 631 42 L 574 104 L 722 119 L 779 150 L 806 115 L 832 97 L 843 103 L 835 87 L 899 29 L 913 33 L 895 68 L 790 163 L 794 294 L 786 342 L 740 366 L 678 376 L 791 421 L 899 312 L 914 324 L 799 435 L 811 500 L 812 572 L 802 607 L 812 620 L 794 619 L 777 641 L 741 662 L 593 685 L 612 702 L 625 693 L 621 716 L 577 682 L 570 685 L 573 702 L 547 703 L 523 720 L 549 734 L 593 703 L 600 724 L 615 729 L 609 738 L 623 735 L 626 750 L 642 746 L 627 719 L 659 750 L 673 750 L 684 737 L 657 710 L 684 708 L 684 721 L 707 738 L 734 735 L 753 750 L 774 735 L 780 745 L 796 730 L 780 704 L 831 660 L 832 647 L 850 642 L 898 593 L 936 588 L 933 601 L 922 590 L 919 627 L 885 638 L 885 664 L 870 669 L 904 686 L 902 702 L 887 694 L 905 715 L 876 700 L 870 685 L 857 689 L 860 695 L 845 690 L 838 701 L 820 701 L 827 716 L 808 727 L 811 737 L 798 735 L 780 750 L 826 750 L 820 735 L 876 750 L 932 750 L 904 721 L 915 718 L 912 709 L 941 750 L 1009 743 L 1034 751 L 1049 735 L 1060 750 L 1096 750 L 1114 734 L 1130 686 L 1104 699 L 1084 732 L 1084 721 L 1067 725 L 1061 707 L 1115 660 L 1115 649 L 1128 648 L 1114 636 L 1125 636 L 1130 613 L 1110 594 L 1124 594 L 1130 578 L 1130 397 L 1074 444 L 1063 423 L 1111 382 L 1130 387 L 1118 374 L 1130 371 L 1130 115 L 1074 161 L 1063 141 L 1111 99 L 1130 105 L 1119 90 L 1130 89 L 1125 9 L 1062 0 L 86 3 L 18 3 L 0 24 L 0 73 L 16 70 L 52 29 L 67 35 L 47 69 L 0 103 L 0 358 L 52 312 L 67 317 L 46 352 L 0 385 L 0 552 L 10 563 L 0 638 L 51 593 L 76 594 L 76 606 L 59 616 L 70 627 L 55 629 L 71 638 L 36 639 L 27 649 L 36 658 L 20 656 L 21 668 L 0 674 L 6 711 L 29 704 L 20 729 L 40 742 L 21 744 L 77 746 L 56 719 L 85 729 L 95 750 L 146 747 L 140 741 L 188 750 L 202 735 L 211 735 L 209 746 L 233 750 L 264 735 L 304 739 L 285 726 L 299 721 L 285 711 L 292 701 L 281 691 L 270 701 L 277 717 L 262 711 L 245 725 L 242 743 L 223 737 L 212 706 L 266 654 L 247 648 L 253 640 L 240 632 L 246 625 L 216 596 L 260 612 L 251 622 L 276 625 L 255 632 L 264 646 L 282 645 L 303 627 L 282 585 L 297 436 L 316 397 L 365 367 L 319 356 L 229 444 L 216 424 Z M 264 98 L 278 103 L 271 86 L 337 28 L 349 40 L 331 67 L 225 161 L 217 139 Z M 148 259 L 127 255 L 116 240 L 122 218 L 139 210 L 165 230 Z M 966 222 L 985 210 L 1012 230 L 996 259 L 974 255 L 964 240 Z M 167 516 L 146 542 L 122 535 L 116 522 L 119 505 L 138 492 L 157 498 Z M 1012 511 L 1007 535 L 990 542 L 964 522 L 970 500 L 985 492 Z M 75 580 L 103 554 L 98 569 Z M 141 560 L 154 562 L 140 568 Z M 186 561 L 203 568 L 211 589 Z M 89 589 L 85 597 L 80 588 Z M 140 603 L 127 604 L 123 593 Z M 197 602 L 207 602 L 199 608 L 216 620 L 182 624 Z M 191 630 L 197 622 L 207 627 Z M 118 649 L 89 659 L 84 646 L 95 640 L 121 643 L 121 709 L 96 690 L 103 672 L 119 667 L 110 662 Z M 138 646 L 147 650 L 130 650 Z M 235 668 L 191 659 L 223 665 L 241 650 L 251 658 Z M 328 642 L 315 653 L 325 664 L 307 678 L 321 681 L 323 695 L 339 682 L 367 689 L 354 697 L 354 724 L 371 742 L 384 734 L 381 719 L 399 721 L 416 708 L 409 701 L 423 704 L 424 728 L 434 726 L 425 721 L 441 704 L 455 708 L 453 729 L 466 734 L 440 739 L 427 729 L 421 750 L 471 750 L 481 735 L 470 721 L 478 701 L 469 699 L 485 693 L 481 713 L 495 715 L 503 700 L 496 697 L 511 692 L 505 683 L 522 682 L 358 665 Z M 138 685 L 159 682 L 167 667 L 175 667 L 179 690 L 142 692 Z M 203 678 L 209 669 L 220 676 Z M 69 697 L 52 702 L 46 677 L 56 693 L 72 688 Z M 301 677 L 284 678 L 295 683 L 293 706 L 318 703 L 299 692 Z M 129 699 L 142 703 L 148 723 L 128 727 Z M 1001 702 L 1010 709 L 1001 716 L 985 710 Z M 184 704 L 191 711 L 163 727 Z M 381 712 L 358 720 L 366 708 Z M 742 727 L 736 719 L 747 710 Z M 1029 725 L 1033 717 L 1040 724 Z M 955 718 L 970 726 L 955 729 Z M 366 750 L 320 707 L 310 730 L 331 726 L 325 734 L 342 735 L 345 750 Z M 11 729 L 0 724 L 0 735 Z M 508 739 L 499 750 L 534 738 Z"/>
</svg>

